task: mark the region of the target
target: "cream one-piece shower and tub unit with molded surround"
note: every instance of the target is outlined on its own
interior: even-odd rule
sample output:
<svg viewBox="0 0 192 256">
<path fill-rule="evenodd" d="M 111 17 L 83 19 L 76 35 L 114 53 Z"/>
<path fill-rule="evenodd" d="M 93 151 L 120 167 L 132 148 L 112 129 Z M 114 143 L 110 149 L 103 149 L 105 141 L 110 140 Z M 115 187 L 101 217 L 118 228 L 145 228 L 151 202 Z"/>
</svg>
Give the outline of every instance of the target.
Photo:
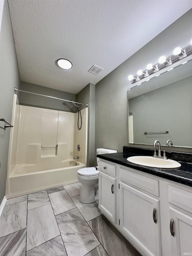
<svg viewBox="0 0 192 256">
<path fill-rule="evenodd" d="M 86 167 L 88 108 L 81 115 L 79 130 L 78 113 L 21 106 L 14 95 L 7 199 L 78 182 L 77 170 Z"/>
</svg>

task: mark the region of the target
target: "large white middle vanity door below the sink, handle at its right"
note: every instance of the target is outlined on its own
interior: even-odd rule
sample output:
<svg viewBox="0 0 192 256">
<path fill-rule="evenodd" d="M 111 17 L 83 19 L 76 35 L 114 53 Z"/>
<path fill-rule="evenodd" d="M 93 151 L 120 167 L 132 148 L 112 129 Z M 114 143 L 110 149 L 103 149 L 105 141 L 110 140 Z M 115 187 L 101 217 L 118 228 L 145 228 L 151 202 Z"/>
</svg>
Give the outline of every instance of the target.
<svg viewBox="0 0 192 256">
<path fill-rule="evenodd" d="M 120 192 L 121 230 L 145 255 L 161 255 L 159 200 L 123 182 Z"/>
</svg>

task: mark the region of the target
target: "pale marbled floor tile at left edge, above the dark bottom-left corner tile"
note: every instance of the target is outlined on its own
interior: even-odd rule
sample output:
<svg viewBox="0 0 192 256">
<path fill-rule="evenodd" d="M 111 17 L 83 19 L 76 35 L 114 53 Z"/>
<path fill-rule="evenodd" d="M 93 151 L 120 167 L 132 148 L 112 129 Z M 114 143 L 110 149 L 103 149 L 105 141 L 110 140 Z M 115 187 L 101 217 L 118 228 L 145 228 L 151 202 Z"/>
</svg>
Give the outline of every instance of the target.
<svg viewBox="0 0 192 256">
<path fill-rule="evenodd" d="M 0 237 L 6 236 L 27 225 L 27 201 L 4 206 L 0 218 Z"/>
</svg>

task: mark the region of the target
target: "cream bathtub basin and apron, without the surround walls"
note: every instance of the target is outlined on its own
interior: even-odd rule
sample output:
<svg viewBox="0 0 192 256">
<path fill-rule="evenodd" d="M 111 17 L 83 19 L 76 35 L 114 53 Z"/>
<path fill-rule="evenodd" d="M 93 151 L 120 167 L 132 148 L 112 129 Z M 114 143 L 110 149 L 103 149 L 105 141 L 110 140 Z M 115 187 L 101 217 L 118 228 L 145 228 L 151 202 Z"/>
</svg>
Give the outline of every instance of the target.
<svg viewBox="0 0 192 256">
<path fill-rule="evenodd" d="M 62 161 L 56 167 L 55 169 L 49 169 L 46 166 L 46 168 L 40 169 L 35 164 L 15 166 L 8 180 L 9 186 L 6 198 L 9 199 L 78 182 L 77 170 L 84 168 L 85 164 L 72 159 Z"/>
</svg>

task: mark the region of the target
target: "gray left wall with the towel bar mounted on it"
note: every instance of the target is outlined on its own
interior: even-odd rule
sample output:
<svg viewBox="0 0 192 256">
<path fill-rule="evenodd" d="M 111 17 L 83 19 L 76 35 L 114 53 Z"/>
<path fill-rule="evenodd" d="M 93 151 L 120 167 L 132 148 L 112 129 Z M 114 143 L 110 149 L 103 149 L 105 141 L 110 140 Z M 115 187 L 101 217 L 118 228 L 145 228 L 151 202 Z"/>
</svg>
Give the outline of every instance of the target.
<svg viewBox="0 0 192 256">
<path fill-rule="evenodd" d="M 20 83 L 7 0 L 4 1 L 0 34 L 0 118 L 11 122 L 14 87 Z M 4 122 L 1 122 L 4 127 Z M 0 204 L 5 195 L 10 129 L 0 129 Z"/>
</svg>

